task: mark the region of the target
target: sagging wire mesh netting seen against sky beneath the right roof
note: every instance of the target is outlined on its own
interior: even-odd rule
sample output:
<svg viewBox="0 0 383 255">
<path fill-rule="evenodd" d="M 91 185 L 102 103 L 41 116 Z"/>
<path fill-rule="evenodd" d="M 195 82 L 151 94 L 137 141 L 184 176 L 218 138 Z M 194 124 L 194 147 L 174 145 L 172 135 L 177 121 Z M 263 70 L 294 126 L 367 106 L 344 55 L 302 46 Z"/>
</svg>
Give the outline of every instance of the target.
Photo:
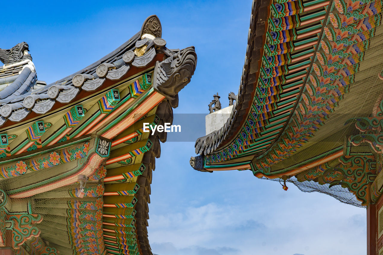
<svg viewBox="0 0 383 255">
<path fill-rule="evenodd" d="M 270 180 L 270 181 L 279 181 L 280 183 L 283 183 L 283 180 L 279 178 L 269 179 L 266 177 L 262 177 L 260 179 Z M 340 185 L 334 185 L 332 187 L 329 187 L 330 186 L 329 183 L 321 185 L 314 181 L 300 182 L 295 177 L 291 177 L 287 179 L 286 183 L 293 183 L 295 186 L 298 187 L 300 191 L 303 191 L 303 192 L 308 192 L 308 193 L 319 192 L 319 193 L 327 194 L 339 200 L 342 203 L 350 204 L 350 205 L 361 207 L 361 208 L 366 208 L 366 206 L 363 206 L 362 202 L 359 201 L 353 193 L 351 193 L 347 188 L 342 188 L 342 186 Z"/>
</svg>

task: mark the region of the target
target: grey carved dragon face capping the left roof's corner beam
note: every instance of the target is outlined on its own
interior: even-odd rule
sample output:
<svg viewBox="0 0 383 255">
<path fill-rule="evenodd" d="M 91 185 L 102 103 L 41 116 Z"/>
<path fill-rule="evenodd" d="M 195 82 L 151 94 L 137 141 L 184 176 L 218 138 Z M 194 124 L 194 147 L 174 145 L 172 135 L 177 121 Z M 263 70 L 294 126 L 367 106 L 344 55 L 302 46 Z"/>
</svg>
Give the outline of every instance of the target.
<svg viewBox="0 0 383 255">
<path fill-rule="evenodd" d="M 154 69 L 155 90 L 174 99 L 189 82 L 197 64 L 194 47 L 187 47 L 177 54 L 157 62 Z"/>
</svg>

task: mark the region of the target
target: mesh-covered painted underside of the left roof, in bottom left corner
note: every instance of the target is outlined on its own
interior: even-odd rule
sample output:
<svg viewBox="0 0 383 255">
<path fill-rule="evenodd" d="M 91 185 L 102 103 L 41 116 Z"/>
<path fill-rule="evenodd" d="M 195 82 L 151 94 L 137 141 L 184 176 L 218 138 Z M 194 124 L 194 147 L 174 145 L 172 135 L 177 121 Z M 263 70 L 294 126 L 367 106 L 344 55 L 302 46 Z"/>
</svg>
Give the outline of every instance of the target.
<svg viewBox="0 0 383 255">
<path fill-rule="evenodd" d="M 13 198 L 22 185 L 34 185 L 39 173 L 59 172 L 59 166 L 27 172 L 0 181 L 2 239 L 17 255 L 81 254 L 103 247 L 102 207 L 104 185 L 101 180 L 52 185 L 51 190 L 27 198 Z M 79 197 L 80 196 L 80 197 Z M 83 251 L 76 248 L 82 245 Z M 27 253 L 25 253 L 27 252 Z M 59 252 L 59 253 L 58 253 Z M 86 254 L 86 253 L 85 253 Z M 88 253 L 98 254 L 98 253 Z"/>
</svg>

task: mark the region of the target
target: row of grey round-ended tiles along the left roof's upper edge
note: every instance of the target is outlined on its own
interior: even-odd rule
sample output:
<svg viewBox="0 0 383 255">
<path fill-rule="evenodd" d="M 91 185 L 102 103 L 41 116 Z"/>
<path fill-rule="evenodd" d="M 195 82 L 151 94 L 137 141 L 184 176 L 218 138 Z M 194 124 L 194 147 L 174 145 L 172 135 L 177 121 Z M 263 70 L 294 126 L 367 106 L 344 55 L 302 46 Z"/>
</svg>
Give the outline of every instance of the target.
<svg viewBox="0 0 383 255">
<path fill-rule="evenodd" d="M 148 20 L 153 17 L 155 15 L 149 17 Z M 32 111 L 36 114 L 49 112 L 55 108 L 56 101 L 69 103 L 75 98 L 78 99 L 77 96 L 81 96 L 82 91 L 99 90 L 107 80 L 119 80 L 132 68 L 146 67 L 157 54 L 167 57 L 175 54 L 165 47 L 166 42 L 162 38 L 148 38 L 145 37 L 146 34 L 142 34 L 144 38 L 141 38 L 141 34 L 142 31 L 138 32 L 100 60 L 40 90 L 31 92 L 23 90 L 24 87 L 22 87 L 20 89 L 22 91 L 17 91 L 16 85 L 8 86 L 7 93 L 1 97 L 3 100 L 0 101 L 0 127 L 7 122 L 7 119 L 20 122 L 27 118 Z M 136 56 L 133 51 L 139 49 L 143 49 L 143 51 Z"/>
</svg>

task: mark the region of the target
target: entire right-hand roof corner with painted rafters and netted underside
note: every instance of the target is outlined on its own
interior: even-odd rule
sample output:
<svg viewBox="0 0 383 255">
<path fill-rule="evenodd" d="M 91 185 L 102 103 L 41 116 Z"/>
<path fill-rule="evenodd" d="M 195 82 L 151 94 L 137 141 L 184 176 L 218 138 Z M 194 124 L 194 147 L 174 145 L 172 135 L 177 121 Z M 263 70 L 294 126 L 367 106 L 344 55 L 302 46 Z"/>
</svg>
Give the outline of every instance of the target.
<svg viewBox="0 0 383 255">
<path fill-rule="evenodd" d="M 376 201 L 382 5 L 254 1 L 238 100 L 221 129 L 197 139 L 200 155 L 191 157 L 191 166 L 251 170 L 357 206 Z M 354 199 L 332 193 L 336 189 Z"/>
</svg>

